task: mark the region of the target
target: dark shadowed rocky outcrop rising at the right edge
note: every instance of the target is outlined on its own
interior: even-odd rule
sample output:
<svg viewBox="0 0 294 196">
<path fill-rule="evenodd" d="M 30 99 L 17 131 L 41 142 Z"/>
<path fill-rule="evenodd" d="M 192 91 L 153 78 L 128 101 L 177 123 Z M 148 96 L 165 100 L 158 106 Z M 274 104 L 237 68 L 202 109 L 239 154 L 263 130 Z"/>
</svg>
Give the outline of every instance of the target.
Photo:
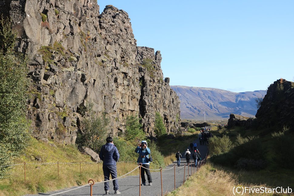
<svg viewBox="0 0 294 196">
<path fill-rule="evenodd" d="M 294 83 L 279 79 L 271 84 L 257 110 L 256 118 L 263 127 L 294 130 Z"/>
</svg>

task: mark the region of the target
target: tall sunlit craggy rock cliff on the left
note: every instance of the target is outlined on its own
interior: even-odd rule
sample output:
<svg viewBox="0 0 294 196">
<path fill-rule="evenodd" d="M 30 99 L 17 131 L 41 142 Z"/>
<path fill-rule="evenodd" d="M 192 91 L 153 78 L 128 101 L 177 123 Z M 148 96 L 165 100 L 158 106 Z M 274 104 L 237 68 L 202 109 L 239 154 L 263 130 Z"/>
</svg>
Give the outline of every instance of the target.
<svg viewBox="0 0 294 196">
<path fill-rule="evenodd" d="M 124 131 L 125 117 L 139 115 L 155 136 L 155 112 L 170 131 L 179 129 L 179 98 L 163 78 L 160 51 L 138 47 L 128 14 L 91 0 L 4 0 L 17 51 L 29 59 L 32 80 L 27 116 L 34 135 L 75 143 L 82 109 L 111 119 L 110 135 Z"/>
</svg>

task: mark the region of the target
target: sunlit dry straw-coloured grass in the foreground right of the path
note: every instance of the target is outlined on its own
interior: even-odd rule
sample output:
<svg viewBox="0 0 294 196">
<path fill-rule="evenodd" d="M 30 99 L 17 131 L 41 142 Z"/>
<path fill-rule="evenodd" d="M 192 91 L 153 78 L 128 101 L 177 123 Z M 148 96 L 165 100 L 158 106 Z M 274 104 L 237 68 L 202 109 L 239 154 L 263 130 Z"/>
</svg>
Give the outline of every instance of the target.
<svg viewBox="0 0 294 196">
<path fill-rule="evenodd" d="M 214 168 L 212 164 L 207 163 L 202 166 L 197 173 L 192 175 L 184 185 L 167 194 L 167 196 L 231 196 L 232 189 L 235 186 L 260 187 L 266 185 L 245 185 L 239 184 L 237 177 L 224 170 Z M 249 195 L 248 193 L 243 195 Z M 272 194 L 250 194 L 250 195 L 272 195 Z"/>
</svg>

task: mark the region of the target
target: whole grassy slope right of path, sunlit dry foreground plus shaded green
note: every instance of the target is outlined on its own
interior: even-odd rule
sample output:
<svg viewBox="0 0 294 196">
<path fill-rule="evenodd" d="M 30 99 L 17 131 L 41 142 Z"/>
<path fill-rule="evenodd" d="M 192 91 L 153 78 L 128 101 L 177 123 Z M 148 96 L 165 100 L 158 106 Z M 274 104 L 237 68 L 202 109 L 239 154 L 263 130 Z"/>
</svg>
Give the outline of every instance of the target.
<svg viewBox="0 0 294 196">
<path fill-rule="evenodd" d="M 268 130 L 244 130 L 241 127 L 234 127 L 230 130 L 211 131 L 215 136 L 229 135 L 232 142 L 236 141 L 240 133 L 242 137 L 260 135 L 262 146 L 266 149 L 267 167 L 259 171 L 244 171 L 235 168 L 206 164 L 199 172 L 178 188 L 171 195 L 232 195 L 232 187 L 243 186 L 266 186 L 266 187 L 294 187 L 294 171 L 279 167 L 273 158 L 271 133 Z M 197 193 L 197 194 L 196 194 Z M 254 195 L 254 194 L 250 194 Z M 262 194 L 256 194 L 262 195 Z M 272 194 L 269 194 L 272 195 Z M 282 195 L 282 194 L 276 194 Z"/>
</svg>

